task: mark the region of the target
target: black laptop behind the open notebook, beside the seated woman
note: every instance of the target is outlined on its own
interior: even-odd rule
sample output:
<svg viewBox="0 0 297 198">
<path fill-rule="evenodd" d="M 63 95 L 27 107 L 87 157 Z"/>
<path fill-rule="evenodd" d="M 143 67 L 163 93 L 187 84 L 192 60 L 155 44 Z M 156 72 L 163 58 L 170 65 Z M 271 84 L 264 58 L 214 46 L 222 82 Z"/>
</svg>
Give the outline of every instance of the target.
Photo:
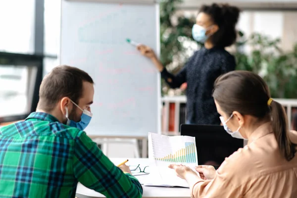
<svg viewBox="0 0 297 198">
<path fill-rule="evenodd" d="M 233 138 L 220 125 L 182 124 L 181 135 L 195 137 L 199 165 L 216 169 L 225 157 L 244 147 L 244 140 Z"/>
</svg>

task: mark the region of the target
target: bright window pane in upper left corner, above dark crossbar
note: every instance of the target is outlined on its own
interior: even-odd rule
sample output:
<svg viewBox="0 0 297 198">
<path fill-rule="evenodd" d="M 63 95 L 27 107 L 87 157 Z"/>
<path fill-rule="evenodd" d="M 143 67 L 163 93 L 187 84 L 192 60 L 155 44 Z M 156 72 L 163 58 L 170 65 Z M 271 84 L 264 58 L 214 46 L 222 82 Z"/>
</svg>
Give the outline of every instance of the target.
<svg viewBox="0 0 297 198">
<path fill-rule="evenodd" d="M 0 51 L 34 53 L 35 0 L 0 0 Z"/>
</svg>

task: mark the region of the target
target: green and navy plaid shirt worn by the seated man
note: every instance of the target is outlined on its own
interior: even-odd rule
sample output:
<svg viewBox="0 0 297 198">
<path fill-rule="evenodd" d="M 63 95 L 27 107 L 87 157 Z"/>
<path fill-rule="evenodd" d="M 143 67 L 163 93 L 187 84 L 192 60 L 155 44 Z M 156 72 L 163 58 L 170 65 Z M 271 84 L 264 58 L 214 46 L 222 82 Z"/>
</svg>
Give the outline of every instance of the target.
<svg viewBox="0 0 297 198">
<path fill-rule="evenodd" d="M 143 193 L 84 131 L 47 113 L 0 128 L 0 198 L 74 198 L 78 182 L 108 198 Z"/>
</svg>

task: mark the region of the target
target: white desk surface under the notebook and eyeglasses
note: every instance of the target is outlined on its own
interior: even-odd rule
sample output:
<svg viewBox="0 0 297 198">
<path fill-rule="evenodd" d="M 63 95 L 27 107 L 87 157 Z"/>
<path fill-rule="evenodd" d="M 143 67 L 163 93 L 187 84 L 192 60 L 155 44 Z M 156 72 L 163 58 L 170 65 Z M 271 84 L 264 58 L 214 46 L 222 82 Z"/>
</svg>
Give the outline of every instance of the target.
<svg viewBox="0 0 297 198">
<path fill-rule="evenodd" d="M 115 164 L 123 162 L 125 158 L 111 158 L 111 161 Z M 148 165 L 148 158 L 132 158 L 129 159 L 127 165 Z M 147 175 L 141 175 L 136 177 L 146 177 Z M 166 188 L 166 187 L 149 187 L 142 186 L 144 193 L 143 198 L 190 198 L 190 189 L 188 188 Z M 88 189 L 82 184 L 77 185 L 76 190 L 77 198 L 104 198 L 103 195 L 97 193 L 94 190 Z"/>
</svg>

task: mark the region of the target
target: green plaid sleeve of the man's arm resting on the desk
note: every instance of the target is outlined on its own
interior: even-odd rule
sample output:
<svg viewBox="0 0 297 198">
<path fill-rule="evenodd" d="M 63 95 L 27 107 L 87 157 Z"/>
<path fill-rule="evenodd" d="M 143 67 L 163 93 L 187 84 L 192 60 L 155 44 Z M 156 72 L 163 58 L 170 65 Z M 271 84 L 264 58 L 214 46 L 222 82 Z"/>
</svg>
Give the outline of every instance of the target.
<svg viewBox="0 0 297 198">
<path fill-rule="evenodd" d="M 75 140 L 73 172 L 84 186 L 107 198 L 141 198 L 139 181 L 115 166 L 85 132 Z"/>
</svg>

